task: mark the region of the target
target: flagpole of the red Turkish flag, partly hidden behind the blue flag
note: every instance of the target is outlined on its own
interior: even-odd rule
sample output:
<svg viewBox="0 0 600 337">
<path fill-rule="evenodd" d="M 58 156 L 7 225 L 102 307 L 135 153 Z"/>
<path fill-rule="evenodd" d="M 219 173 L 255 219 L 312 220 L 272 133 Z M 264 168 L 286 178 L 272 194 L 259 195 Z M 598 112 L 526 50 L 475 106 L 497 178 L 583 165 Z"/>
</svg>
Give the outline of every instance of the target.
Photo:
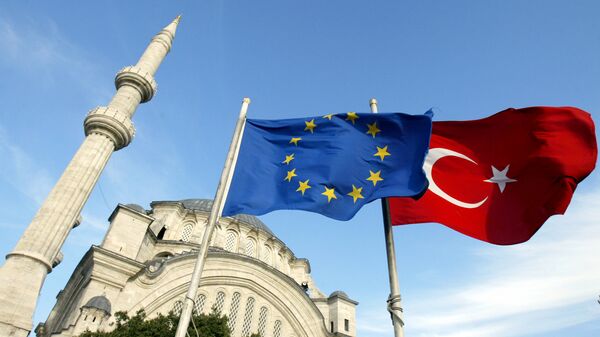
<svg viewBox="0 0 600 337">
<path fill-rule="evenodd" d="M 371 98 L 369 101 L 371 112 L 377 113 L 377 100 Z M 400 284 L 398 282 L 398 269 L 396 267 L 396 250 L 394 246 L 394 231 L 390 218 L 388 200 L 381 199 L 383 211 L 383 231 L 385 234 L 385 247 L 388 258 L 388 275 L 390 279 L 390 296 L 388 297 L 388 311 L 390 312 L 392 324 L 394 325 L 394 337 L 404 337 L 404 320 L 402 318 L 402 305 L 400 298 Z"/>
</svg>

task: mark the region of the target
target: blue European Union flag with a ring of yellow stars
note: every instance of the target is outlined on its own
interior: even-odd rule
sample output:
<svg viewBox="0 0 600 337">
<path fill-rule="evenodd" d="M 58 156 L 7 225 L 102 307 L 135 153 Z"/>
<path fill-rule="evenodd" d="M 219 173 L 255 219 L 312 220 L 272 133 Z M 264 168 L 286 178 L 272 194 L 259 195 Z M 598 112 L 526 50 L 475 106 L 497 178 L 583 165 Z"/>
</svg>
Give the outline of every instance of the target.
<svg viewBox="0 0 600 337">
<path fill-rule="evenodd" d="M 349 220 L 375 199 L 420 195 L 431 117 L 248 119 L 223 215 L 301 209 Z"/>
</svg>

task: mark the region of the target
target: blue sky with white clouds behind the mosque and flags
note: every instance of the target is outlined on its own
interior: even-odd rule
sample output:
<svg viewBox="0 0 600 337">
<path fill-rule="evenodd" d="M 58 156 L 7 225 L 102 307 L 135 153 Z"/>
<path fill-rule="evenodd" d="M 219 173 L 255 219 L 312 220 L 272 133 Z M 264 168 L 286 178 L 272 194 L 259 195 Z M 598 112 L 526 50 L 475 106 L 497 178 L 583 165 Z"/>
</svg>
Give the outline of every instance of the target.
<svg viewBox="0 0 600 337">
<path fill-rule="evenodd" d="M 241 99 L 249 116 L 380 111 L 437 120 L 572 105 L 598 120 L 597 1 L 4 1 L 0 4 L 0 253 L 18 240 L 108 103 L 177 14 L 159 92 L 115 153 L 47 278 L 35 323 L 117 203 L 214 195 Z M 498 247 L 441 225 L 396 228 L 406 335 L 598 336 L 600 181 L 527 243 Z M 310 260 L 317 285 L 359 301 L 361 337 L 392 336 L 379 203 L 348 222 L 297 211 L 261 219 Z"/>
</svg>

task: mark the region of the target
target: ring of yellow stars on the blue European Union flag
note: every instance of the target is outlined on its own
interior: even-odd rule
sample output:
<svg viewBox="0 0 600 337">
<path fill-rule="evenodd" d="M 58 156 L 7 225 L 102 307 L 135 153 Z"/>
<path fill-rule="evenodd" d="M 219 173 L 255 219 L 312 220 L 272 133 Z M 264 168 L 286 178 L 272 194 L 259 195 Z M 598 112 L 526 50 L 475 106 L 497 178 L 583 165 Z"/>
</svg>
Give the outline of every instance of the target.
<svg viewBox="0 0 600 337">
<path fill-rule="evenodd" d="M 334 114 L 328 114 L 328 115 L 323 116 L 323 118 L 327 119 L 327 120 L 331 120 L 333 117 L 334 117 Z M 360 119 L 360 116 L 358 116 L 358 114 L 356 112 L 348 112 L 346 114 L 346 118 L 345 118 L 346 121 L 352 123 L 353 125 L 356 125 L 356 122 L 358 119 Z M 315 122 L 314 118 L 309 121 L 305 121 L 304 124 L 305 124 L 304 131 L 310 132 L 311 134 L 314 133 L 315 129 L 318 126 L 318 124 Z M 375 138 L 380 132 L 382 132 L 381 129 L 379 129 L 379 127 L 377 126 L 377 121 L 374 121 L 372 124 L 366 124 L 366 126 L 367 126 L 366 134 L 372 136 L 373 138 Z M 298 143 L 301 141 L 302 141 L 302 137 L 291 137 L 289 144 L 294 144 L 295 146 L 298 146 Z M 388 151 L 388 145 L 383 146 L 383 147 L 379 147 L 379 146 L 375 146 L 375 147 L 376 147 L 376 151 L 373 154 L 373 156 L 379 157 L 379 159 L 382 162 L 385 160 L 386 157 L 392 155 Z M 285 159 L 281 163 L 290 165 L 290 163 L 294 159 L 296 159 L 294 153 L 286 154 Z M 288 183 L 291 183 L 295 177 L 298 177 L 298 174 L 296 173 L 296 168 L 292 168 L 291 170 L 287 171 L 287 174 L 283 180 L 287 181 Z M 373 171 L 369 170 L 369 176 L 366 177 L 365 180 L 373 183 L 373 187 L 375 187 L 375 186 L 377 186 L 378 182 L 383 181 L 384 179 L 381 177 L 381 170 L 379 170 L 377 172 L 373 172 Z M 298 188 L 296 189 L 296 192 L 299 192 L 302 194 L 302 196 L 304 196 L 304 193 L 308 189 L 312 188 L 312 186 L 309 184 L 309 182 L 310 182 L 309 179 L 306 179 L 304 181 L 298 179 Z M 323 186 L 323 187 L 325 190 L 321 193 L 321 195 L 327 197 L 327 203 L 330 203 L 331 200 L 338 199 L 338 194 L 336 194 L 334 187 L 331 187 L 331 188 L 329 188 L 327 186 Z M 346 195 L 352 197 L 354 203 L 356 203 L 359 199 L 365 198 L 362 195 L 362 191 L 363 191 L 363 187 L 356 187 L 354 184 L 352 184 L 352 191 L 347 193 Z"/>
</svg>

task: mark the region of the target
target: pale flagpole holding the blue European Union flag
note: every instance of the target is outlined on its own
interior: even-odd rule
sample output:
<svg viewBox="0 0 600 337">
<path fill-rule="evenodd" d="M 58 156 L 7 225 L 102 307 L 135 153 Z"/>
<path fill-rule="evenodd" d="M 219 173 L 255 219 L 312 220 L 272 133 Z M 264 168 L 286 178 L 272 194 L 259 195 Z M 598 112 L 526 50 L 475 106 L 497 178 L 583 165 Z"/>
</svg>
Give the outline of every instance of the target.
<svg viewBox="0 0 600 337">
<path fill-rule="evenodd" d="M 210 215 L 208 216 L 208 224 L 206 225 L 206 230 L 202 236 L 202 243 L 200 244 L 200 250 L 198 251 L 198 258 L 196 259 L 196 264 L 194 265 L 192 280 L 190 282 L 187 295 L 185 296 L 185 301 L 183 303 L 183 309 L 181 310 L 181 316 L 179 318 L 179 324 L 177 325 L 175 337 L 185 337 L 190 324 L 190 317 L 192 316 L 194 301 L 196 298 L 196 293 L 198 292 L 198 286 L 200 284 L 200 277 L 202 276 L 202 270 L 204 269 L 204 263 L 206 262 L 206 255 L 208 254 L 210 238 L 212 237 L 217 220 L 221 217 L 221 204 L 223 203 L 223 200 L 225 200 L 227 189 L 229 188 L 231 177 L 233 176 L 233 168 L 235 168 L 235 163 L 237 161 L 237 155 L 242 141 L 244 126 L 246 124 L 246 113 L 248 111 L 249 104 L 250 99 L 244 98 L 242 102 L 242 108 L 240 109 L 240 116 L 237 124 L 235 125 L 235 131 L 231 139 L 231 145 L 229 146 L 229 152 L 227 154 L 227 158 L 225 159 L 225 166 L 223 167 L 223 172 L 221 172 L 221 178 L 219 179 L 219 185 L 217 186 L 215 199 L 210 210 Z"/>
</svg>

